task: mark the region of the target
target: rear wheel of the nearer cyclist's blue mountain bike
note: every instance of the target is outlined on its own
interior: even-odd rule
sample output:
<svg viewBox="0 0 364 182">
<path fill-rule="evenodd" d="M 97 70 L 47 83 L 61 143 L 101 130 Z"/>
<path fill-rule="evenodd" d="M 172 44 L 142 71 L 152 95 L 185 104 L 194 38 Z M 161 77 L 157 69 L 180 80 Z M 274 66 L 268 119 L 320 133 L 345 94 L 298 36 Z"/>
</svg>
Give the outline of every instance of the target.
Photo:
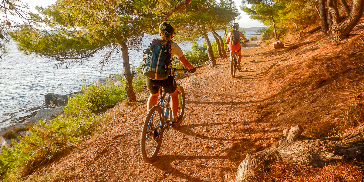
<svg viewBox="0 0 364 182">
<path fill-rule="evenodd" d="M 146 163 L 153 162 L 161 148 L 163 132 L 158 135 L 161 116 L 162 108 L 160 106 L 153 106 L 144 120 L 140 138 L 140 151 Z"/>
</svg>

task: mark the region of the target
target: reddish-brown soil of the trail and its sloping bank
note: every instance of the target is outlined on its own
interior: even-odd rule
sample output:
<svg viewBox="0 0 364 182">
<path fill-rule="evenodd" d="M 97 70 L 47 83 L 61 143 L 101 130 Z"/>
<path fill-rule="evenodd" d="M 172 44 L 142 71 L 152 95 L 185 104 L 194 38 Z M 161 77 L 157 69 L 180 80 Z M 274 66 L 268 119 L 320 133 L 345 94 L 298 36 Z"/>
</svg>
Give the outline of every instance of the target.
<svg viewBox="0 0 364 182">
<path fill-rule="evenodd" d="M 226 58 L 180 80 L 185 118 L 178 131 L 167 132 L 154 163 L 143 162 L 139 152 L 148 97 L 144 91 L 139 102 L 110 111 L 115 117 L 102 136 L 84 141 L 39 173 L 63 171 L 69 176 L 64 181 L 85 182 L 231 181 L 245 155 L 273 145 L 284 128 L 300 124 L 304 135 L 324 134 L 327 118 L 358 102 L 355 96 L 364 89 L 360 37 L 339 45 L 320 33 L 282 40 L 286 47 L 302 45 L 293 50 L 250 41 L 242 50 L 247 69 L 235 79 Z"/>
</svg>

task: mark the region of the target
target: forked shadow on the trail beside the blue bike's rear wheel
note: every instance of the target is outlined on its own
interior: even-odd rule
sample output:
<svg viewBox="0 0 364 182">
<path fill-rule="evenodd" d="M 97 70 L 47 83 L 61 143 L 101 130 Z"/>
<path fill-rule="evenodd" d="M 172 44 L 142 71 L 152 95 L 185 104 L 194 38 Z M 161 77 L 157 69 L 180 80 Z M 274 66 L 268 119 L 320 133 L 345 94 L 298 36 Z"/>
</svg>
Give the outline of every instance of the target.
<svg viewBox="0 0 364 182">
<path fill-rule="evenodd" d="M 200 160 L 200 159 L 228 159 L 228 156 L 186 156 L 186 155 L 159 155 L 154 163 L 153 166 L 157 167 L 158 169 L 165 171 L 165 173 L 174 175 L 181 179 L 186 179 L 187 181 L 193 182 L 208 182 L 202 180 L 197 177 L 190 176 L 189 174 L 182 173 L 174 168 L 171 165 L 172 162 L 181 160 L 181 161 L 193 161 L 193 160 Z M 183 163 L 183 162 L 181 162 Z"/>
</svg>

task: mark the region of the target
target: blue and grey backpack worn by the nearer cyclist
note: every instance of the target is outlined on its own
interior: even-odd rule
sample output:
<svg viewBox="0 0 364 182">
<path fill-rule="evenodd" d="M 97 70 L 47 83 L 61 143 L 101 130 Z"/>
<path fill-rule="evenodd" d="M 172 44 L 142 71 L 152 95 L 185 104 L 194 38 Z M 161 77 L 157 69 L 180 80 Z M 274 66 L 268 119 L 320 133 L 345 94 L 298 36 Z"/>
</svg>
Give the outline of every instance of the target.
<svg viewBox="0 0 364 182">
<path fill-rule="evenodd" d="M 165 80 L 171 74 L 171 40 L 154 39 L 143 51 L 143 75 L 152 80 Z"/>
</svg>

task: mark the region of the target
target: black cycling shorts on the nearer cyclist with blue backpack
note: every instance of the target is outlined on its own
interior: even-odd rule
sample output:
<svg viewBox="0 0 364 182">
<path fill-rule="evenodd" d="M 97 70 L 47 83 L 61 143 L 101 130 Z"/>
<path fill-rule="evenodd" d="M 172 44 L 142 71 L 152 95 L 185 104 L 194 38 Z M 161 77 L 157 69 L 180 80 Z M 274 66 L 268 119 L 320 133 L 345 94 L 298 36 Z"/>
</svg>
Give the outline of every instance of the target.
<svg viewBox="0 0 364 182">
<path fill-rule="evenodd" d="M 157 94 L 159 92 L 159 88 L 157 86 L 163 87 L 167 94 L 172 94 L 177 89 L 176 80 L 172 75 L 165 80 L 152 80 L 145 77 L 145 84 L 151 94 Z"/>
</svg>

